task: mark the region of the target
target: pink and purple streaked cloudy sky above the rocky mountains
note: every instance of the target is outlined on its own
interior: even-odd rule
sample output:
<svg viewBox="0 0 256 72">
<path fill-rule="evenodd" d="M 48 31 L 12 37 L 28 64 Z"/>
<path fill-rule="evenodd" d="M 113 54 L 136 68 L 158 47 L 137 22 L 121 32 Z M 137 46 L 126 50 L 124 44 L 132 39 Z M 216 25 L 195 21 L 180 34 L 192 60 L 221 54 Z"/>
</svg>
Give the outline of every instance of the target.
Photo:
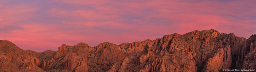
<svg viewBox="0 0 256 72">
<path fill-rule="evenodd" d="M 256 34 L 256 1 L 0 1 L 0 40 L 37 52 L 80 42 L 97 46 L 154 40 L 196 29 L 249 38 Z"/>
</svg>

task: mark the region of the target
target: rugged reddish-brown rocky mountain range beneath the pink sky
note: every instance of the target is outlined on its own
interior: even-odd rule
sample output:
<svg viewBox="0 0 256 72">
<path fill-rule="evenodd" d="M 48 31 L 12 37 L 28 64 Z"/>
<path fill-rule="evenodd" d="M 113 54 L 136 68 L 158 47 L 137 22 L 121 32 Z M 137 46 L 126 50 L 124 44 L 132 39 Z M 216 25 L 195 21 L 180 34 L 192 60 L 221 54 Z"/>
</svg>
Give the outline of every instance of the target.
<svg viewBox="0 0 256 72">
<path fill-rule="evenodd" d="M 61 45 L 37 53 L 0 41 L 0 72 L 218 72 L 256 69 L 256 35 L 249 39 L 216 30 L 174 33 L 156 40 Z"/>
</svg>

